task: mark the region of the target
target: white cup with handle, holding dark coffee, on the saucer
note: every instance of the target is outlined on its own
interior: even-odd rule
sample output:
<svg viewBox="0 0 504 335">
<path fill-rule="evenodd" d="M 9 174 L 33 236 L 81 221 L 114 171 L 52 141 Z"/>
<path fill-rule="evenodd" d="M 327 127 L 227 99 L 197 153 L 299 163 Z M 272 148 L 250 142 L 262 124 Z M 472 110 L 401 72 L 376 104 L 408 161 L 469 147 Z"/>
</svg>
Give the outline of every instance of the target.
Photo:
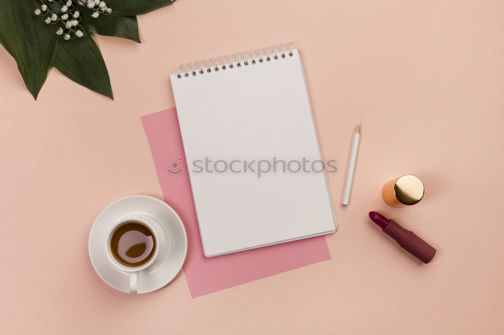
<svg viewBox="0 0 504 335">
<path fill-rule="evenodd" d="M 136 266 L 136 267 L 128 267 L 128 266 L 125 266 L 125 265 L 119 263 L 115 259 L 114 255 L 112 254 L 112 248 L 111 248 L 111 239 L 112 239 L 112 235 L 114 234 L 114 232 L 119 227 L 123 226 L 124 224 L 132 223 L 132 222 L 140 223 L 140 224 L 144 225 L 146 228 L 148 228 L 152 232 L 152 237 L 154 239 L 154 253 L 153 253 L 153 255 L 151 256 L 149 261 L 147 261 L 146 263 L 144 263 L 140 266 Z M 140 280 L 140 278 L 139 278 L 140 272 L 142 270 L 145 270 L 148 267 L 150 267 L 156 261 L 156 259 L 159 256 L 158 254 L 159 254 L 159 249 L 160 249 L 160 243 L 161 242 L 164 242 L 165 244 L 169 243 L 168 238 L 160 238 L 160 236 L 162 236 L 163 234 L 166 234 L 166 232 L 163 229 L 163 227 L 161 226 L 161 223 L 159 222 L 159 220 L 157 220 L 155 217 L 153 217 L 149 214 L 146 214 L 146 213 L 133 213 L 133 214 L 122 217 L 110 228 L 109 232 L 107 233 L 107 237 L 105 240 L 105 243 L 106 243 L 105 249 L 106 249 L 108 260 L 110 261 L 110 263 L 114 267 L 116 267 L 120 271 L 123 271 L 123 272 L 130 274 L 130 293 L 136 294 L 138 292 L 138 282 Z M 167 247 L 168 247 L 167 245 L 163 245 L 163 249 L 167 249 Z"/>
</svg>

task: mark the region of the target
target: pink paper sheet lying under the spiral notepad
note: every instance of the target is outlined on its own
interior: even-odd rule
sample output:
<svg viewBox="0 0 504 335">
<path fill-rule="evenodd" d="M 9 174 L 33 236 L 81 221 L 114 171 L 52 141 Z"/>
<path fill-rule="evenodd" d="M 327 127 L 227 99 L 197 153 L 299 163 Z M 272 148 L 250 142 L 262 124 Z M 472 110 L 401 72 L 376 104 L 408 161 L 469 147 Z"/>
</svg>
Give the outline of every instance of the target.
<svg viewBox="0 0 504 335">
<path fill-rule="evenodd" d="M 205 258 L 176 109 L 144 115 L 142 122 L 164 201 L 178 213 L 187 231 L 183 268 L 193 298 L 331 259 L 325 236 Z M 173 167 L 174 162 L 178 166 Z M 168 167 L 183 171 L 171 174 Z"/>
</svg>

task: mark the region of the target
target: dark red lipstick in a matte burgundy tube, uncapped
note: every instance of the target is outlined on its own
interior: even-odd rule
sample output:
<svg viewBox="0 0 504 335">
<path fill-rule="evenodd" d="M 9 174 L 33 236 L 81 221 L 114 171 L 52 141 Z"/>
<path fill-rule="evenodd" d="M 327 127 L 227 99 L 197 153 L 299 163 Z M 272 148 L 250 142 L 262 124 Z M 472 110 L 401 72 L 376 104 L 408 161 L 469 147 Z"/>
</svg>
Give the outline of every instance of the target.
<svg viewBox="0 0 504 335">
<path fill-rule="evenodd" d="M 401 227 L 396 221 L 389 220 L 378 212 L 369 212 L 369 218 L 382 228 L 384 233 L 392 237 L 400 247 L 423 263 L 429 263 L 434 257 L 436 249 L 415 235 L 414 232 Z"/>
</svg>

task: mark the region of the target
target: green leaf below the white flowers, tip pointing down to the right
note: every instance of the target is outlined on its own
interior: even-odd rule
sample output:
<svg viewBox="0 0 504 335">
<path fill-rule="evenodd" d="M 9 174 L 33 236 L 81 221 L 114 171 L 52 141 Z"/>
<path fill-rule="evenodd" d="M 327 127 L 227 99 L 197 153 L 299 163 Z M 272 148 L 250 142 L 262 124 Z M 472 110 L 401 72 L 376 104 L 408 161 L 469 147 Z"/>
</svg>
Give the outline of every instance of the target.
<svg viewBox="0 0 504 335">
<path fill-rule="evenodd" d="M 107 66 L 91 35 L 61 40 L 52 66 L 79 85 L 114 99 Z"/>
</svg>

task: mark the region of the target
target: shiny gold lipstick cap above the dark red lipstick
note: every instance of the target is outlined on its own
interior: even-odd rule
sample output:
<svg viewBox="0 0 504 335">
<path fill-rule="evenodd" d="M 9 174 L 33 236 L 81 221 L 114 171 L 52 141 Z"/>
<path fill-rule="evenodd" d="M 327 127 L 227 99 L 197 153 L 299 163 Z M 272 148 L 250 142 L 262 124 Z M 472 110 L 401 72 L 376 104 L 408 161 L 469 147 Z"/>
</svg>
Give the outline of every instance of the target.
<svg viewBox="0 0 504 335">
<path fill-rule="evenodd" d="M 414 205 L 423 198 L 422 181 L 415 176 L 406 175 L 389 180 L 382 189 L 382 198 L 391 207 Z"/>
</svg>

